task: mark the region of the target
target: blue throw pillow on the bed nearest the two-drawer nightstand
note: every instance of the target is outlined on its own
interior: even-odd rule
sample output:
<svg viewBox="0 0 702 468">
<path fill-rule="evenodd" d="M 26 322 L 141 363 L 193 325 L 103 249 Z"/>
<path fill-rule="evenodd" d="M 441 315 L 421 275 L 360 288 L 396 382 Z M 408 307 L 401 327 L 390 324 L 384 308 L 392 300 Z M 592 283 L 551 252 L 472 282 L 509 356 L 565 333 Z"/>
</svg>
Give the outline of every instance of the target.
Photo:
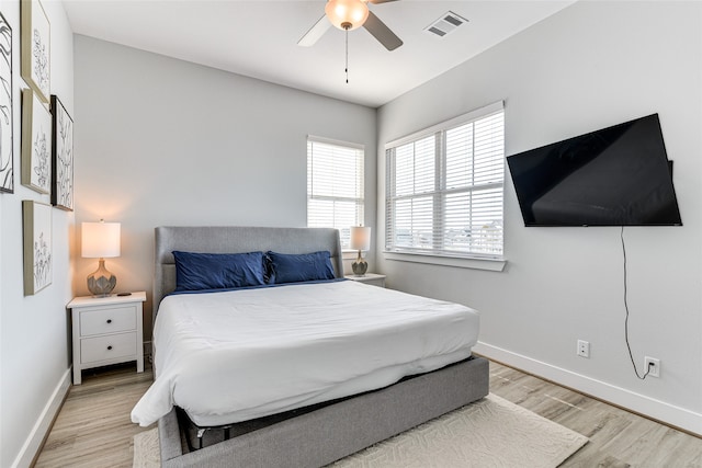
<svg viewBox="0 0 702 468">
<path fill-rule="evenodd" d="M 173 251 L 176 290 L 264 285 L 263 252 L 194 253 Z"/>
</svg>

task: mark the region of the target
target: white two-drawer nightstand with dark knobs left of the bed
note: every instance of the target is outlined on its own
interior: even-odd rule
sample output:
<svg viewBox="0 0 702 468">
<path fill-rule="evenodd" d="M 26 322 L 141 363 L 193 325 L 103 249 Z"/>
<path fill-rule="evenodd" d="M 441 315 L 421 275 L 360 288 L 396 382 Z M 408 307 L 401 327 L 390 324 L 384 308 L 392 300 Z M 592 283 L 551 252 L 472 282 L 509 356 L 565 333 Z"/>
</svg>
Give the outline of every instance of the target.
<svg viewBox="0 0 702 468">
<path fill-rule="evenodd" d="M 143 304 L 146 293 L 76 297 L 68 304 L 73 324 L 73 385 L 81 370 L 136 361 L 144 372 Z"/>
</svg>

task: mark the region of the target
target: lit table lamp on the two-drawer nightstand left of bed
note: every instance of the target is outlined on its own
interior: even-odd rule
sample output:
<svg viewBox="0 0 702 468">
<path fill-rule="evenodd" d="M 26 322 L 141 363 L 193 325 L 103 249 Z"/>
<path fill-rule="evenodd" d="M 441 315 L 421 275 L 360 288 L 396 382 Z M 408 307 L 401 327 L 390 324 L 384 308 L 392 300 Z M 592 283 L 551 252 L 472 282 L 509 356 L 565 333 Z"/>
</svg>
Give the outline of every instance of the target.
<svg viewBox="0 0 702 468">
<path fill-rule="evenodd" d="M 117 278 L 105 269 L 105 259 L 120 256 L 120 222 L 82 222 L 81 252 L 86 259 L 100 259 L 88 276 L 88 289 L 93 296 L 109 296 Z"/>
</svg>

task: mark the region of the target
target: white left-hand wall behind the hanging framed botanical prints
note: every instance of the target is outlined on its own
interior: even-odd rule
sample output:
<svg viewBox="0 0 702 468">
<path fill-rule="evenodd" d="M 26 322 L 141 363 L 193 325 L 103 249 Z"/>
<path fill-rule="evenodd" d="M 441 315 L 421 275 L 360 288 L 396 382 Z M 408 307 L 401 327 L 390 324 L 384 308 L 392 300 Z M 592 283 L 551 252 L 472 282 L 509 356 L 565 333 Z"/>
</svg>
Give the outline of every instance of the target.
<svg viewBox="0 0 702 468">
<path fill-rule="evenodd" d="M 73 36 L 58 1 L 45 1 L 52 30 L 52 93 L 72 115 Z M 13 34 L 14 193 L 0 194 L 0 466 L 27 466 L 68 386 L 70 361 L 66 305 L 71 299 L 73 213 L 52 209 L 54 277 L 34 296 L 23 296 L 22 201 L 50 203 L 20 183 L 20 2 L 0 11 Z"/>
</svg>

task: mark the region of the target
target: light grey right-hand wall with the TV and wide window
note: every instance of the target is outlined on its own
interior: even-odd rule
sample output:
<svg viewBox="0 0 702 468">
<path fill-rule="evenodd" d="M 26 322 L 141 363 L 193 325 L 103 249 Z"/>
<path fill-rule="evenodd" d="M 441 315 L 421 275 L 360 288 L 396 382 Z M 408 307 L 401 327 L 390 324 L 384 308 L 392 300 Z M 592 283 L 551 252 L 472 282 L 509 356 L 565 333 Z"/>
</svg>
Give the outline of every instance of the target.
<svg viewBox="0 0 702 468">
<path fill-rule="evenodd" d="M 386 141 L 498 100 L 508 156 L 657 112 L 684 226 L 624 236 L 634 356 L 661 378 L 629 361 L 619 228 L 524 228 L 509 174 L 505 272 L 378 253 L 387 284 L 478 309 L 483 354 L 702 433 L 700 83 L 702 3 L 578 2 L 378 111 L 378 227 Z"/>
</svg>

